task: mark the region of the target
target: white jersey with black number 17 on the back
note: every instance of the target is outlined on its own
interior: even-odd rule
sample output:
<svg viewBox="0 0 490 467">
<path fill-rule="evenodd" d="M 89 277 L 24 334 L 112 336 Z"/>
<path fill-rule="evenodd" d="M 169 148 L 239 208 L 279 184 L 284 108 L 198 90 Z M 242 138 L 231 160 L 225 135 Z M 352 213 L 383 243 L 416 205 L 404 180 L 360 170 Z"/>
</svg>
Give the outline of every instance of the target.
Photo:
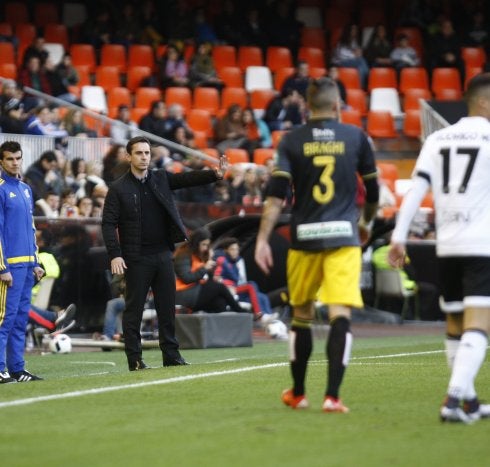
<svg viewBox="0 0 490 467">
<path fill-rule="evenodd" d="M 490 256 L 490 122 L 465 117 L 430 135 L 414 175 L 432 187 L 438 256 Z"/>
</svg>

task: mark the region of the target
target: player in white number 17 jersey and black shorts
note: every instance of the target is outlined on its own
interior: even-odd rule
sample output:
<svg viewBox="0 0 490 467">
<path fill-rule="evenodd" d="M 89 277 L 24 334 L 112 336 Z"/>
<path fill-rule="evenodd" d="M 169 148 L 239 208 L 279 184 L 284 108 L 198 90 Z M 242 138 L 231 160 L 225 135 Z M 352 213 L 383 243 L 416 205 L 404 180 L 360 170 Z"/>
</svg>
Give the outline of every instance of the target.
<svg viewBox="0 0 490 467">
<path fill-rule="evenodd" d="M 410 222 L 432 188 L 441 309 L 446 313 L 446 355 L 451 378 L 442 421 L 471 423 L 490 417 L 474 381 L 490 331 L 490 73 L 465 93 L 468 117 L 430 135 L 417 159 L 391 239 L 390 263 L 401 266 Z"/>
</svg>

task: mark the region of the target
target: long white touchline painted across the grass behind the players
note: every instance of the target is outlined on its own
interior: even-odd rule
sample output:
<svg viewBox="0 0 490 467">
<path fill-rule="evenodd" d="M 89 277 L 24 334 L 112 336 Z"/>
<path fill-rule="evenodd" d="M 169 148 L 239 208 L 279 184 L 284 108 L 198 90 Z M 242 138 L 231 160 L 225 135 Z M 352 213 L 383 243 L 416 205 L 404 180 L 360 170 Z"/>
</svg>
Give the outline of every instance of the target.
<svg viewBox="0 0 490 467">
<path fill-rule="evenodd" d="M 417 355 L 429 355 L 429 354 L 443 353 L 443 352 L 444 352 L 444 350 L 433 350 L 433 351 L 427 351 L 427 352 L 414 352 L 414 353 L 400 353 L 400 354 L 391 354 L 391 355 L 353 357 L 351 360 L 412 357 L 412 356 L 417 356 Z M 323 361 L 325 361 L 325 360 L 323 360 Z M 313 360 L 313 361 L 311 361 L 311 363 L 318 363 L 318 361 Z M 178 383 L 181 381 L 190 381 L 193 379 L 212 378 L 213 376 L 232 375 L 232 374 L 236 374 L 236 373 L 245 373 L 247 371 L 264 370 L 266 368 L 277 368 L 277 367 L 288 366 L 288 365 L 289 365 L 289 362 L 269 363 L 267 365 L 247 366 L 244 368 L 235 368 L 233 370 L 211 371 L 211 372 L 207 372 L 207 373 L 200 373 L 197 375 L 194 374 L 194 375 L 186 375 L 186 376 L 176 376 L 175 378 L 157 379 L 156 381 L 145 381 L 142 383 L 122 384 L 120 386 L 107 386 L 105 388 L 85 389 L 82 391 L 72 391 L 72 392 L 65 392 L 65 393 L 61 393 L 61 394 L 50 394 L 48 396 L 29 397 L 26 399 L 18 399 L 18 400 L 14 400 L 14 401 L 0 402 L 0 409 L 6 408 L 6 407 L 15 407 L 15 406 L 19 406 L 19 405 L 37 404 L 38 402 L 68 399 L 70 397 L 82 397 L 82 396 L 90 396 L 93 394 L 103 394 L 105 392 L 121 391 L 124 389 L 135 389 L 135 388 L 142 388 L 142 387 L 146 387 L 146 386 L 156 386 L 156 385 L 160 385 L 160 384 Z"/>
</svg>

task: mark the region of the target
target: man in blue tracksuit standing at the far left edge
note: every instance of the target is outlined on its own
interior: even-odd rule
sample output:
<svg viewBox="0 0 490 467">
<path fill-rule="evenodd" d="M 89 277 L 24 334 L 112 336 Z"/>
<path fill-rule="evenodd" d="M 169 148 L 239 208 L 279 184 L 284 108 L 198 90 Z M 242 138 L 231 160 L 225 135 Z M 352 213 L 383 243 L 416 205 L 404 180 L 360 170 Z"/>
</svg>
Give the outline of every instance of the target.
<svg viewBox="0 0 490 467">
<path fill-rule="evenodd" d="M 31 291 L 44 271 L 37 254 L 32 192 L 21 180 L 21 168 L 20 144 L 5 141 L 0 146 L 0 384 L 42 379 L 28 372 L 24 361 Z"/>
</svg>

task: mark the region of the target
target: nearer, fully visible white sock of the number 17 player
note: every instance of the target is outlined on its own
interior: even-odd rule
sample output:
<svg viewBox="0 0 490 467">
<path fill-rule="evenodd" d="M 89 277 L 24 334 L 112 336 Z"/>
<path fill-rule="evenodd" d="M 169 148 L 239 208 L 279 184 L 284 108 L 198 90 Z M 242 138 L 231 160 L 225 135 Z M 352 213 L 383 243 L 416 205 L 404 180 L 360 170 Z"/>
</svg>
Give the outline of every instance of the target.
<svg viewBox="0 0 490 467">
<path fill-rule="evenodd" d="M 461 337 L 453 371 L 448 386 L 448 395 L 456 399 L 469 399 L 474 390 L 474 381 L 487 350 L 487 337 L 478 331 L 466 331 Z M 473 395 L 474 397 L 474 395 Z"/>
</svg>

